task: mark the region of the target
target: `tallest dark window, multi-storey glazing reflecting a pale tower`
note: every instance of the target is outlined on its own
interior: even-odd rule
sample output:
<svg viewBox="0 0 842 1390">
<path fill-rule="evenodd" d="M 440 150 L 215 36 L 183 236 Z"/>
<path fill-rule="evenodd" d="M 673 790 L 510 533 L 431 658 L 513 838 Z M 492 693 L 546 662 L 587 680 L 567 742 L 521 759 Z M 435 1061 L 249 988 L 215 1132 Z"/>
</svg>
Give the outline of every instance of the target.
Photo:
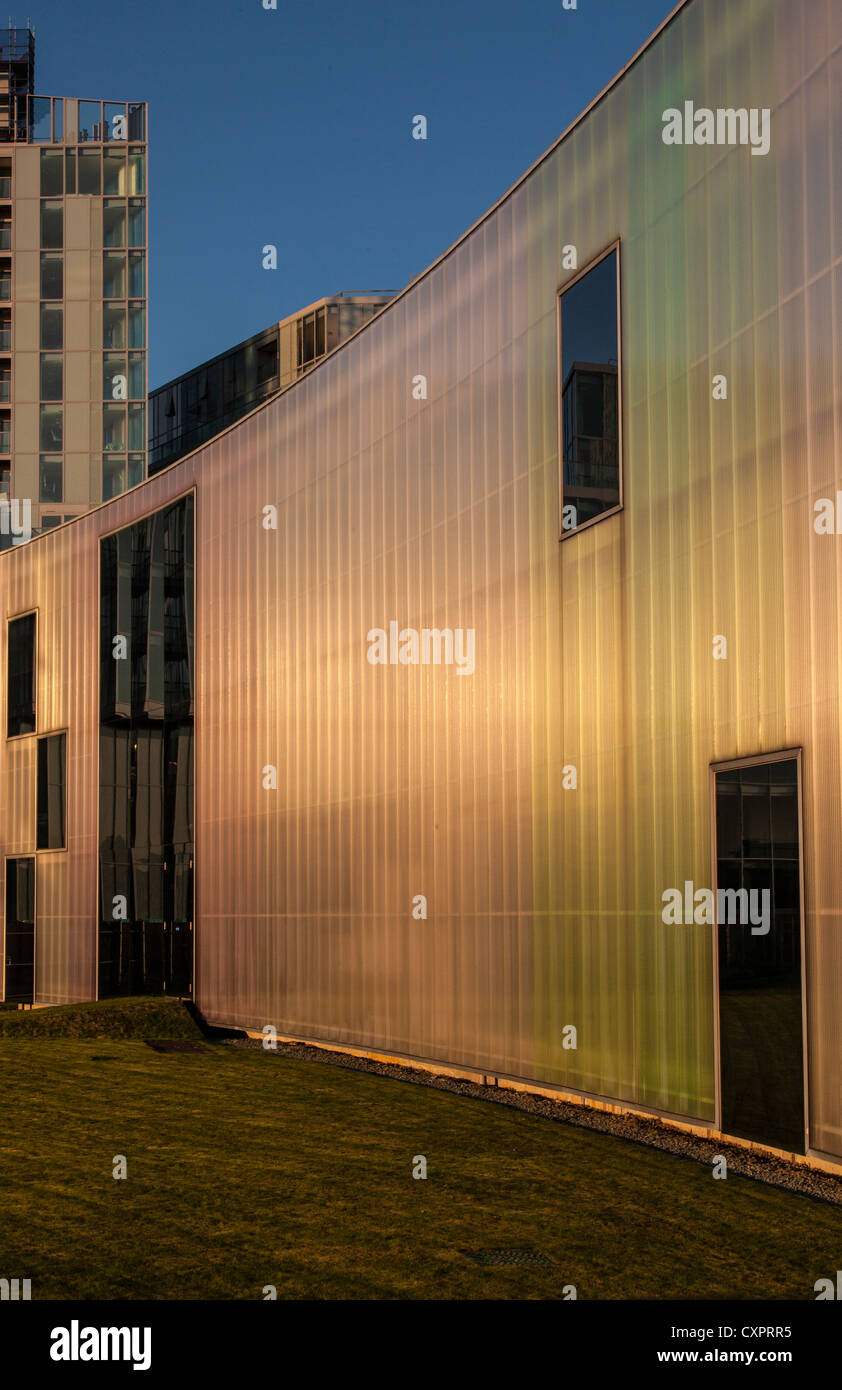
<svg viewBox="0 0 842 1390">
<path fill-rule="evenodd" d="M 192 498 L 100 542 L 100 994 L 189 992 Z"/>
</svg>

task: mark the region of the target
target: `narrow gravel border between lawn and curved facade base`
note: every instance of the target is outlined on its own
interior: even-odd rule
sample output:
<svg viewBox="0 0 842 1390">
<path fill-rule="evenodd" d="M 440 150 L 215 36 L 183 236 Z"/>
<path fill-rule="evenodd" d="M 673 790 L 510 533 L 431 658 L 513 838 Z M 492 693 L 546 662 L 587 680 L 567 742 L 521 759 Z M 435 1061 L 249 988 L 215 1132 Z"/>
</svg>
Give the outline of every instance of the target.
<svg viewBox="0 0 842 1390">
<path fill-rule="evenodd" d="M 267 1056 L 272 1056 L 272 1049 L 264 1048 L 260 1038 L 226 1037 L 218 1041 L 222 1047 L 257 1048 L 260 1052 L 265 1051 Z M 322 1062 L 328 1066 L 345 1068 L 349 1072 L 370 1072 L 374 1076 L 388 1076 L 395 1081 L 408 1081 L 410 1086 L 427 1086 L 436 1091 L 450 1091 L 453 1095 L 490 1101 L 493 1105 L 507 1105 L 515 1111 L 525 1111 L 528 1115 L 542 1115 L 545 1119 L 561 1125 L 599 1130 L 632 1144 L 643 1144 L 646 1148 L 660 1148 L 667 1154 L 675 1154 L 678 1158 L 691 1159 L 691 1162 L 702 1163 L 706 1168 L 711 1168 L 714 1158 L 721 1154 L 728 1162 L 729 1175 L 738 1173 L 741 1177 L 749 1177 L 770 1187 L 781 1187 L 785 1191 L 800 1193 L 803 1197 L 842 1207 L 842 1177 L 836 1177 L 834 1173 L 809 1168 L 806 1163 L 792 1163 L 768 1154 L 759 1154 L 742 1148 L 739 1144 L 729 1144 L 727 1140 L 689 1134 L 664 1125 L 656 1116 L 616 1115 L 611 1111 L 575 1105 L 564 1099 L 556 1101 L 546 1095 L 534 1095 L 529 1091 L 513 1091 L 507 1087 L 482 1086 L 478 1081 L 465 1081 L 454 1076 L 422 1072 L 403 1066 L 400 1062 L 374 1062 L 350 1052 L 332 1052 L 324 1047 L 310 1047 L 307 1042 L 282 1042 L 278 1038 L 274 1055 L 282 1059 Z"/>
</svg>

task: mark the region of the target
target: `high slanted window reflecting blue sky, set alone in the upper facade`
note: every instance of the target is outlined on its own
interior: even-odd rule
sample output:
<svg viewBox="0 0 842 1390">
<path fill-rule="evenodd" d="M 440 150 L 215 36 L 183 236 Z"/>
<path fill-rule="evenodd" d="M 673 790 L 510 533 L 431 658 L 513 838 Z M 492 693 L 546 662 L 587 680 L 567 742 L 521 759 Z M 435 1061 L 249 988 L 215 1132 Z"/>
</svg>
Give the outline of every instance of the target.
<svg viewBox="0 0 842 1390">
<path fill-rule="evenodd" d="M 620 492 L 620 252 L 559 295 L 561 539 L 616 512 Z"/>
</svg>

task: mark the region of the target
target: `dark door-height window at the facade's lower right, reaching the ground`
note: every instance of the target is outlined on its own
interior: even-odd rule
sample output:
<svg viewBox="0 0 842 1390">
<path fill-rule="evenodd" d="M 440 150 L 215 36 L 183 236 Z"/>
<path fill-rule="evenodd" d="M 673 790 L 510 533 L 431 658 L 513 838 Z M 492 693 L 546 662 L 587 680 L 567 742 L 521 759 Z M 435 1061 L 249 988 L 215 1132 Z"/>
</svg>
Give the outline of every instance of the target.
<svg viewBox="0 0 842 1390">
<path fill-rule="evenodd" d="M 803 1154 L 798 823 L 795 759 L 717 773 L 723 1129 Z"/>
</svg>

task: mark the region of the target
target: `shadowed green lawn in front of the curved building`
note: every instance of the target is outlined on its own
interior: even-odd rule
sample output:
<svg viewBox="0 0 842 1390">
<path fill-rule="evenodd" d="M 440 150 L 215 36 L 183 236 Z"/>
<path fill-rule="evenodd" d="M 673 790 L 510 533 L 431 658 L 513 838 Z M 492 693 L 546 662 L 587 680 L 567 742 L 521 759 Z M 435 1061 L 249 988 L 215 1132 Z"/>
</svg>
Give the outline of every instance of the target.
<svg viewBox="0 0 842 1390">
<path fill-rule="evenodd" d="M 0 1068 L 0 1275 L 33 1298 L 810 1300 L 842 1264 L 839 1208 L 381 1076 L 122 1037 L 4 1036 Z"/>
</svg>

